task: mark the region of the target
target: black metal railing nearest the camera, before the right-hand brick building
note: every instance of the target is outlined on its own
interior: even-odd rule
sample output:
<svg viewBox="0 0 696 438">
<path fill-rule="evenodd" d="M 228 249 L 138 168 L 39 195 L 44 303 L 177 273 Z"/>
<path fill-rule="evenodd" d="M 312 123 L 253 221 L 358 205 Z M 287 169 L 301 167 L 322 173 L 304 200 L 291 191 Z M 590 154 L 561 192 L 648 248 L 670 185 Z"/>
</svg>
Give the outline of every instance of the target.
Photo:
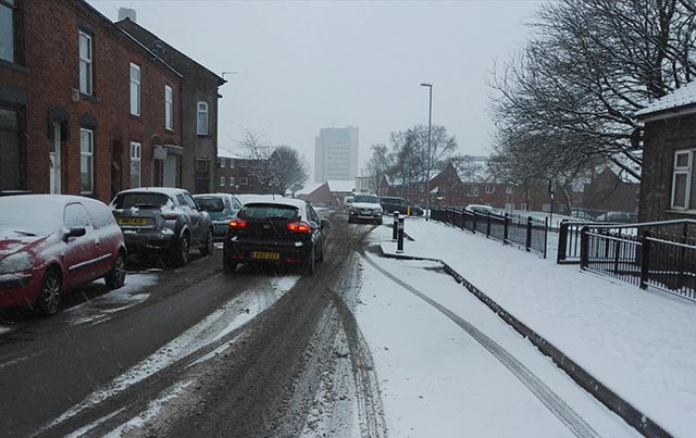
<svg viewBox="0 0 696 438">
<path fill-rule="evenodd" d="M 632 225 L 563 223 L 558 263 L 696 301 L 696 221 Z"/>
</svg>

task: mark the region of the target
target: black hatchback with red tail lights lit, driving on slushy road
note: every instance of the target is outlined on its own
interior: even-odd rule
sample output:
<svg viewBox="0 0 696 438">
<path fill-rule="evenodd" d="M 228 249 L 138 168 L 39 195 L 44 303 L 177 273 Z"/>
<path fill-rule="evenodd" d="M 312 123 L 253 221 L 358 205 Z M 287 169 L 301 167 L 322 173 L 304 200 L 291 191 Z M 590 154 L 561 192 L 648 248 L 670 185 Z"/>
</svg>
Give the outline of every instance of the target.
<svg viewBox="0 0 696 438">
<path fill-rule="evenodd" d="M 331 224 L 320 218 L 312 205 L 291 198 L 260 198 L 249 201 L 229 222 L 223 245 L 223 268 L 239 263 L 298 265 L 314 274 L 315 262 L 324 261 L 326 233 Z"/>
</svg>

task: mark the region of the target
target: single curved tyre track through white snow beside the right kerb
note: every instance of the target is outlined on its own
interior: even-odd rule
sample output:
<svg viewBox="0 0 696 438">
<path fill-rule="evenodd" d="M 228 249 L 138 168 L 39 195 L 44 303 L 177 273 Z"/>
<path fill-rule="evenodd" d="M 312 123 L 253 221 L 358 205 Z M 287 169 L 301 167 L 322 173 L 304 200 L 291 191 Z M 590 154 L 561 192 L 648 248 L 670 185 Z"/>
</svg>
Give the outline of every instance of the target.
<svg viewBox="0 0 696 438">
<path fill-rule="evenodd" d="M 534 373 L 532 373 L 526 366 L 518 361 L 512 354 L 510 354 L 505 348 L 499 346 L 496 341 L 483 334 L 472 324 L 467 322 L 461 316 L 451 312 L 449 309 L 439 304 L 437 301 L 431 299 L 425 293 L 406 284 L 399 278 L 391 275 L 388 271 L 380 266 L 371 256 L 365 253 L 361 253 L 362 259 L 371 266 L 377 270 L 380 273 L 391 279 L 397 285 L 401 286 L 406 290 L 410 291 L 414 296 L 419 297 L 423 301 L 431 304 L 437 311 L 443 313 L 455 324 L 461 327 L 467 334 L 469 334 L 476 342 L 485 348 L 490 354 L 493 354 L 502 365 L 505 365 L 524 386 L 526 386 L 532 393 L 566 427 L 568 427 L 573 435 L 579 438 L 598 438 L 600 437 L 587 422 L 585 422 L 566 401 L 563 401 L 558 395 L 554 392 L 544 381 L 542 381 Z"/>
</svg>

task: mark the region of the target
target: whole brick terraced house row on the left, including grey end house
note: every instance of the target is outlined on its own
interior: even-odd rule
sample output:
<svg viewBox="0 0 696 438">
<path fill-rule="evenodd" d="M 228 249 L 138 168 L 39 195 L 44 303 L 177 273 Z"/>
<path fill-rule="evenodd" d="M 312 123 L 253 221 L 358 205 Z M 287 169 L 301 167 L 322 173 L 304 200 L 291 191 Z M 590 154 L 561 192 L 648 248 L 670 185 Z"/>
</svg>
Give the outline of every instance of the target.
<svg viewBox="0 0 696 438">
<path fill-rule="evenodd" d="M 83 0 L 0 0 L 0 190 L 216 186 L 225 80 Z"/>
</svg>

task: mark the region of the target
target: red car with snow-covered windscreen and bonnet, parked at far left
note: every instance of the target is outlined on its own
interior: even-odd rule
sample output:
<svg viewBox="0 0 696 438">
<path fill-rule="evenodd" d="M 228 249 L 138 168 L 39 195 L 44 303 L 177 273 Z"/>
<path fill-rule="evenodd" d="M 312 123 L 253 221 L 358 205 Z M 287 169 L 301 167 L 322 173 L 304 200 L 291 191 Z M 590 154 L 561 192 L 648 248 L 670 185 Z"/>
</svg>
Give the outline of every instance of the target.
<svg viewBox="0 0 696 438">
<path fill-rule="evenodd" d="M 103 202 L 69 195 L 0 197 L 0 308 L 58 312 L 61 296 L 126 277 L 123 233 Z"/>
</svg>

